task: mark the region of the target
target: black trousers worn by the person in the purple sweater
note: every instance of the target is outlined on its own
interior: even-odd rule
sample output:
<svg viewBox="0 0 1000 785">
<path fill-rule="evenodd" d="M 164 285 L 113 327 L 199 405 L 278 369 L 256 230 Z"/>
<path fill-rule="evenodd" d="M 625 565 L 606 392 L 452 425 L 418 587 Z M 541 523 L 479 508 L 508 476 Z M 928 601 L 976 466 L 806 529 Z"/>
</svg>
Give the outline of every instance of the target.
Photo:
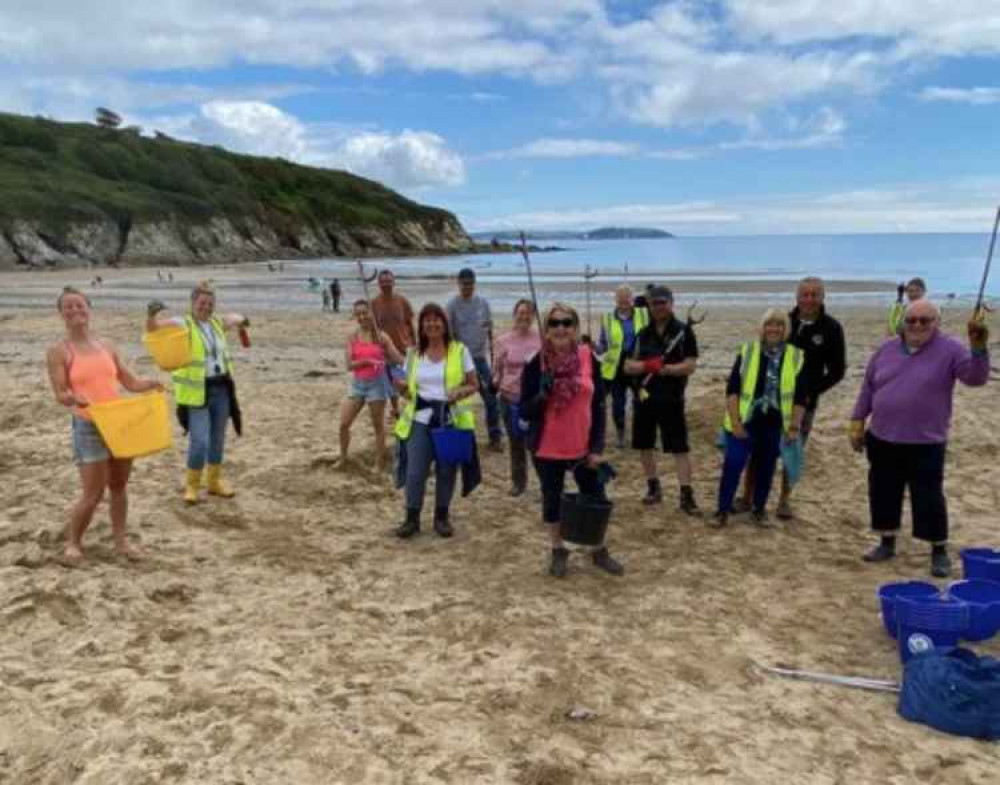
<svg viewBox="0 0 1000 785">
<path fill-rule="evenodd" d="M 943 543 L 948 540 L 948 504 L 944 498 L 946 444 L 899 444 L 865 437 L 868 453 L 868 506 L 872 529 L 884 534 L 899 531 L 903 494 L 910 491 L 913 536 Z"/>
</svg>

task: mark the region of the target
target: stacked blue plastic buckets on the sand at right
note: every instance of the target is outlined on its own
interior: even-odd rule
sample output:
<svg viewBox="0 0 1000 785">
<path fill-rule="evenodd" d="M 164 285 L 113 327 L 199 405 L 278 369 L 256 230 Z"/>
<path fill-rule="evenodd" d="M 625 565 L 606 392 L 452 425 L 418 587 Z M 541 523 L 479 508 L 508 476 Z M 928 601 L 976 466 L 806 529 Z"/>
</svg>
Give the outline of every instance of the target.
<svg viewBox="0 0 1000 785">
<path fill-rule="evenodd" d="M 1000 632 L 1000 551 L 962 551 L 965 580 L 943 593 L 932 583 L 903 581 L 879 587 L 882 623 L 897 641 L 905 665 L 915 654 L 985 641 Z"/>
</svg>

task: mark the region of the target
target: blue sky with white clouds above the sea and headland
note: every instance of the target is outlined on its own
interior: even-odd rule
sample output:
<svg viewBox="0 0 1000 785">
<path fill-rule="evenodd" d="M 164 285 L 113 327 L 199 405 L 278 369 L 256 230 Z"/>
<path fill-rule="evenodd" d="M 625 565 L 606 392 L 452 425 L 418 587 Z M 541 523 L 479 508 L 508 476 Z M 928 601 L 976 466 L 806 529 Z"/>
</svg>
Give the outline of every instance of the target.
<svg viewBox="0 0 1000 785">
<path fill-rule="evenodd" d="M 988 232 L 1000 0 L 0 0 L 0 111 L 97 106 L 470 231 Z"/>
</svg>

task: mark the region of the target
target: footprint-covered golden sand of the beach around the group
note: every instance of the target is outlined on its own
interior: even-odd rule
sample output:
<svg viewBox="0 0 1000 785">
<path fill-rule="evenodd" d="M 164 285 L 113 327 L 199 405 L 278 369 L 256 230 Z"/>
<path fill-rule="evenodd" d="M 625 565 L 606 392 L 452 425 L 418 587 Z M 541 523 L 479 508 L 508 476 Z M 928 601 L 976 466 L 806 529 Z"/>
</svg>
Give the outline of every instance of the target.
<svg viewBox="0 0 1000 785">
<path fill-rule="evenodd" d="M 575 555 L 556 581 L 537 482 L 510 499 L 506 455 L 483 454 L 484 484 L 456 498 L 451 540 L 428 533 L 427 510 L 419 537 L 392 535 L 402 499 L 373 468 L 366 417 L 354 460 L 335 466 L 349 309 L 322 313 L 318 295 L 277 307 L 262 299 L 273 280 L 262 266 L 173 273 L 162 287 L 148 269 L 104 275 L 92 326 L 166 383 L 140 344 L 151 296 L 183 307 L 212 277 L 219 310 L 251 317 L 253 346 L 236 350 L 245 431 L 227 446 L 238 493 L 183 504 L 175 426 L 174 448 L 138 460 L 129 486 L 149 557 L 113 556 L 104 505 L 76 570 L 54 560 L 79 481 L 43 358 L 62 335 L 56 294 L 93 273 L 0 276 L 0 783 L 995 781 L 995 744 L 907 723 L 891 695 L 754 668 L 900 676 L 875 591 L 930 580 L 929 547 L 906 536 L 889 565 L 860 560 L 867 465 L 844 435 L 881 306 L 833 310 L 848 376 L 821 404 L 794 521 L 760 531 L 740 516 L 713 531 L 677 511 L 663 459 L 665 503 L 646 508 L 638 455 L 611 448 L 610 544 L 628 573 Z M 765 305 L 791 306 L 787 289 L 773 303 L 712 304 L 698 329 L 688 411 L 705 510 L 725 374 Z M 451 295 L 443 281 L 402 291 L 415 305 Z M 964 340 L 957 311 L 945 322 Z M 995 384 L 956 394 L 955 578 L 960 547 L 998 545 Z M 976 648 L 1000 655 L 997 640 Z"/>
</svg>

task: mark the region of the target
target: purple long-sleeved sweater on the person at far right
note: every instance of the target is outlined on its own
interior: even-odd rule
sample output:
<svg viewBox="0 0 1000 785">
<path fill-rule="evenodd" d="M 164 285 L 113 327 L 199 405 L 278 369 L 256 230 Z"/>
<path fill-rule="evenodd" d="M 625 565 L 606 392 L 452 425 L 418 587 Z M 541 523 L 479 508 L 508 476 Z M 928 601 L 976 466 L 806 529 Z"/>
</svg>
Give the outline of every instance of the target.
<svg viewBox="0 0 1000 785">
<path fill-rule="evenodd" d="M 981 387 L 989 376 L 988 354 L 974 355 L 940 332 L 916 354 L 906 352 L 902 338 L 890 338 L 868 361 L 853 419 L 871 415 L 869 430 L 884 441 L 942 444 L 955 380 Z"/>
</svg>

